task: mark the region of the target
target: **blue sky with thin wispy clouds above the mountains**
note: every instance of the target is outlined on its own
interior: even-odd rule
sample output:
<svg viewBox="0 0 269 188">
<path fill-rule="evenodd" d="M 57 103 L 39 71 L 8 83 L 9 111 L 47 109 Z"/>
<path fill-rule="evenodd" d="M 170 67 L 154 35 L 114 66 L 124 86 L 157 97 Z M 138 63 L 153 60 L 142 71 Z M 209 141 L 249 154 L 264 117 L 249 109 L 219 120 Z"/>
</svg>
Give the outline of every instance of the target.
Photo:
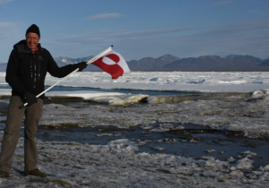
<svg viewBox="0 0 269 188">
<path fill-rule="evenodd" d="M 269 57 L 268 0 L 0 0 L 0 62 L 32 23 L 54 57 Z"/>
</svg>

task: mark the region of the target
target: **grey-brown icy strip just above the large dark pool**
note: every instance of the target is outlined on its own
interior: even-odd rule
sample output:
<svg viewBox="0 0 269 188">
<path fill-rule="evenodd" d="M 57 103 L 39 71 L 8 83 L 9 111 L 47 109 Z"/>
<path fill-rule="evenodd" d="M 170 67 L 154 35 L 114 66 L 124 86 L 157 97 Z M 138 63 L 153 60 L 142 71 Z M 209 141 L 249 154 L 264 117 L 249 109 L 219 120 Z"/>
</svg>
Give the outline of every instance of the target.
<svg viewBox="0 0 269 188">
<path fill-rule="evenodd" d="M 120 128 L 140 124 L 199 124 L 221 131 L 242 132 L 249 138 L 269 138 L 269 100 L 268 97 L 228 96 L 135 106 L 92 106 L 86 103 L 77 108 L 58 104 L 45 105 L 40 125 L 59 124 L 113 125 Z M 151 132 L 173 129 L 161 125 Z"/>
</svg>

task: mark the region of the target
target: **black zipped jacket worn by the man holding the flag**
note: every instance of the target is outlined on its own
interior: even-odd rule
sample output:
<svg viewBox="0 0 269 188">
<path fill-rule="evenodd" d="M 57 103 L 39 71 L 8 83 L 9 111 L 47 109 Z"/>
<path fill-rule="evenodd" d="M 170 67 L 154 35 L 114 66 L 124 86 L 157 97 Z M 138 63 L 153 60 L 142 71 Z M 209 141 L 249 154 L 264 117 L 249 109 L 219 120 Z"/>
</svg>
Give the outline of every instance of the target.
<svg viewBox="0 0 269 188">
<path fill-rule="evenodd" d="M 39 50 L 32 54 L 22 40 L 15 44 L 6 67 L 5 81 L 12 87 L 13 96 L 23 96 L 30 92 L 35 96 L 45 89 L 47 72 L 57 78 L 72 73 L 76 64 L 68 64 L 59 68 L 47 49 L 38 45 Z M 44 98 L 43 94 L 39 98 Z"/>
</svg>

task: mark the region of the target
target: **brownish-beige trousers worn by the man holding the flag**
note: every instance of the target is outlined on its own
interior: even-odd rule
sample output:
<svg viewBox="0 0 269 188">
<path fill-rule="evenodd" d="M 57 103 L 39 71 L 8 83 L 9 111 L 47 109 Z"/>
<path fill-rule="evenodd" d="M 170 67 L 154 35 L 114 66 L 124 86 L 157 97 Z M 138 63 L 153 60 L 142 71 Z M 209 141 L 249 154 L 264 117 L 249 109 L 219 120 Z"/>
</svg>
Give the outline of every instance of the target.
<svg viewBox="0 0 269 188">
<path fill-rule="evenodd" d="M 19 109 L 22 104 L 22 99 L 18 96 L 13 96 L 10 99 L 0 156 L 0 170 L 5 172 L 9 172 L 12 168 L 12 158 L 20 138 L 24 115 L 24 170 L 30 171 L 37 168 L 36 133 L 43 111 L 43 100 L 38 98 L 37 103 Z"/>
</svg>

